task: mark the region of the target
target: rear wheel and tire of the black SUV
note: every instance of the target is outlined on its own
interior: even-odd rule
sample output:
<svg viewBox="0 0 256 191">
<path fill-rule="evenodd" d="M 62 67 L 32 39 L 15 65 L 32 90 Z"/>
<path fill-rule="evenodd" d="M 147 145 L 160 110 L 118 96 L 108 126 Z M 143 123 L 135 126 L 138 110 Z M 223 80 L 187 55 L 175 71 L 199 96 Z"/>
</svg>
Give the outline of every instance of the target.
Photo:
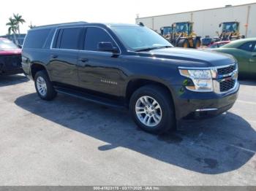
<svg viewBox="0 0 256 191">
<path fill-rule="evenodd" d="M 36 87 L 37 94 L 43 100 L 53 100 L 57 95 L 46 71 L 37 71 L 34 77 L 34 86 Z"/>
</svg>

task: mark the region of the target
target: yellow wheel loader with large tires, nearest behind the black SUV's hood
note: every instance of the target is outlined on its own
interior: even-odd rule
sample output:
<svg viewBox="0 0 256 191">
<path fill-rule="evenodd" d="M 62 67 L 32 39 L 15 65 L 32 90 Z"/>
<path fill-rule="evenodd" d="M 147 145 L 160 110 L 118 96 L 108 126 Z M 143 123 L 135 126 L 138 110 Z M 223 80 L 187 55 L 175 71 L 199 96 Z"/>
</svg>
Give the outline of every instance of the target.
<svg viewBox="0 0 256 191">
<path fill-rule="evenodd" d="M 197 48 L 201 45 L 201 37 L 193 31 L 192 22 L 173 23 L 170 42 L 176 47 Z"/>
</svg>

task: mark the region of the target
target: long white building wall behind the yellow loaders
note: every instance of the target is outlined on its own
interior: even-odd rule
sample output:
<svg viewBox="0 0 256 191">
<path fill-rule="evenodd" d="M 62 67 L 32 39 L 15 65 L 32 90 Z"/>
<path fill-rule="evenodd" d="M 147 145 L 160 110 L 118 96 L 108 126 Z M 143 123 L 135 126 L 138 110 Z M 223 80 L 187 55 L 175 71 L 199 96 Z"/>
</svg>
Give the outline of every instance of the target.
<svg viewBox="0 0 256 191">
<path fill-rule="evenodd" d="M 194 22 L 195 33 L 202 37 L 217 36 L 216 32 L 221 32 L 219 23 L 232 21 L 240 23 L 241 35 L 256 37 L 256 3 L 136 18 L 136 23 L 142 22 L 158 33 L 162 26 L 171 26 L 173 23 L 186 21 Z"/>
</svg>

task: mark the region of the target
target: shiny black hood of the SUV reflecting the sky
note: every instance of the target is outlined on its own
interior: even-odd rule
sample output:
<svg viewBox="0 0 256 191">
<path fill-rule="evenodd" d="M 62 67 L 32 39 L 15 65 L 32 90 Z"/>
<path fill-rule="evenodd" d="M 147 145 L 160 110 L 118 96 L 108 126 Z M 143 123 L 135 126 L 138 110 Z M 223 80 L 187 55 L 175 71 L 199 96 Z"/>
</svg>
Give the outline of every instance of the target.
<svg viewBox="0 0 256 191">
<path fill-rule="evenodd" d="M 186 66 L 192 67 L 223 66 L 236 62 L 232 55 L 178 47 L 140 52 L 140 55 L 173 60 L 176 63 L 180 63 L 181 66 L 185 64 Z"/>
</svg>

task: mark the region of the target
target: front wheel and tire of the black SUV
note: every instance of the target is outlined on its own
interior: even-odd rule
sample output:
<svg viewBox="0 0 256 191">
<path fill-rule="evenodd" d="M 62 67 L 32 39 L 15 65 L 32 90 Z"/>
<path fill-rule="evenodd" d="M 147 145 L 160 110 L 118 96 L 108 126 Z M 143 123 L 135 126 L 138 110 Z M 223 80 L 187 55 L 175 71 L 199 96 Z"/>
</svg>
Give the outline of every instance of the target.
<svg viewBox="0 0 256 191">
<path fill-rule="evenodd" d="M 149 133 L 176 129 L 170 93 L 157 85 L 140 87 L 132 94 L 129 110 L 135 123 Z"/>
</svg>

